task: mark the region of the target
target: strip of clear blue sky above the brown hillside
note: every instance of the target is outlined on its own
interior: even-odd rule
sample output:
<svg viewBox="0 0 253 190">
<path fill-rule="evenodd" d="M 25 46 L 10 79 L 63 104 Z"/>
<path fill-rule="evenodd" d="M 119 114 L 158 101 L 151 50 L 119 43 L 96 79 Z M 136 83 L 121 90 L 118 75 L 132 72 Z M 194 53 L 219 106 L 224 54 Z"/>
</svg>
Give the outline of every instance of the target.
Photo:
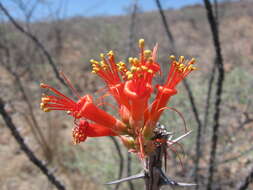
<svg viewBox="0 0 253 190">
<path fill-rule="evenodd" d="M 11 14 L 19 19 L 23 14 L 14 0 L 2 0 L 2 3 L 8 8 Z M 36 0 L 22 0 L 27 7 L 32 7 Z M 73 16 L 101 16 L 101 15 L 122 15 L 126 14 L 134 0 L 43 0 L 45 2 L 36 8 L 34 17 L 36 19 L 49 18 L 52 10 L 61 10 L 61 17 Z M 178 9 L 186 5 L 202 3 L 202 0 L 160 0 L 163 8 Z M 142 11 L 156 10 L 154 0 L 138 0 Z"/>
</svg>

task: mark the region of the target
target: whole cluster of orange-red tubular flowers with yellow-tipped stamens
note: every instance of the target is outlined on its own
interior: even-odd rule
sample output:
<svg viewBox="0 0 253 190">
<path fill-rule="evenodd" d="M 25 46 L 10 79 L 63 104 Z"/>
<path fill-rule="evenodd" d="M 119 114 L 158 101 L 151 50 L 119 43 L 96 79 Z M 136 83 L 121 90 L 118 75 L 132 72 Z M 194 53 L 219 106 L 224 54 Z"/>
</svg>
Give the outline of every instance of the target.
<svg viewBox="0 0 253 190">
<path fill-rule="evenodd" d="M 91 95 L 74 101 L 47 84 L 41 88 L 53 95 L 43 95 L 41 109 L 64 110 L 75 118 L 74 143 L 85 141 L 87 137 L 119 136 L 123 144 L 141 158 L 154 151 L 157 146 L 154 131 L 157 122 L 167 108 L 171 96 L 177 93 L 176 86 L 191 71 L 194 59 L 178 60 L 170 56 L 170 70 L 163 85 L 153 85 L 153 78 L 161 74 L 157 63 L 157 45 L 153 51 L 144 49 L 144 40 L 139 40 L 139 57 L 129 58 L 129 67 L 124 62 L 116 62 L 113 51 L 101 54 L 101 61 L 90 60 L 92 73 L 104 80 L 108 93 L 117 102 L 118 117 L 99 108 Z M 151 102 L 151 95 L 155 94 Z"/>
</svg>

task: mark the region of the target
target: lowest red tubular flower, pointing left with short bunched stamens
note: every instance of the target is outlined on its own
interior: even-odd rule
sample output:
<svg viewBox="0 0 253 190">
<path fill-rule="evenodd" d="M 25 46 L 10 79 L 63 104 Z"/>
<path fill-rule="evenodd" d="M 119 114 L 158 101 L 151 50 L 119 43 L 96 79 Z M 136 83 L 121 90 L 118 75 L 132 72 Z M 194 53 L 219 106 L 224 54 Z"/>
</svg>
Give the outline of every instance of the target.
<svg viewBox="0 0 253 190">
<path fill-rule="evenodd" d="M 73 142 L 75 144 L 85 141 L 87 137 L 104 137 L 116 135 L 117 134 L 111 129 L 95 123 L 89 123 L 86 120 L 80 120 L 72 132 Z"/>
</svg>

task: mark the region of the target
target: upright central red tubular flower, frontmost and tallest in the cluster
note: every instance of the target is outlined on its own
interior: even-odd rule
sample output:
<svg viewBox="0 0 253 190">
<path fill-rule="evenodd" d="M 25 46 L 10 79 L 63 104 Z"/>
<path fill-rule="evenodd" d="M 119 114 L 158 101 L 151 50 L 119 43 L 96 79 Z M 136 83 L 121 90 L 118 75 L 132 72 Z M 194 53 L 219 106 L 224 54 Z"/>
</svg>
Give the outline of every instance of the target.
<svg viewBox="0 0 253 190">
<path fill-rule="evenodd" d="M 153 53 L 150 50 L 144 51 L 144 40 L 141 39 L 139 48 L 140 58 L 129 58 L 131 69 L 126 72 L 128 81 L 124 86 L 124 93 L 130 101 L 131 125 L 137 129 L 145 123 L 144 115 L 148 112 L 148 100 L 153 91 L 152 80 L 160 71 L 159 65 L 155 62 L 157 46 Z"/>
</svg>

